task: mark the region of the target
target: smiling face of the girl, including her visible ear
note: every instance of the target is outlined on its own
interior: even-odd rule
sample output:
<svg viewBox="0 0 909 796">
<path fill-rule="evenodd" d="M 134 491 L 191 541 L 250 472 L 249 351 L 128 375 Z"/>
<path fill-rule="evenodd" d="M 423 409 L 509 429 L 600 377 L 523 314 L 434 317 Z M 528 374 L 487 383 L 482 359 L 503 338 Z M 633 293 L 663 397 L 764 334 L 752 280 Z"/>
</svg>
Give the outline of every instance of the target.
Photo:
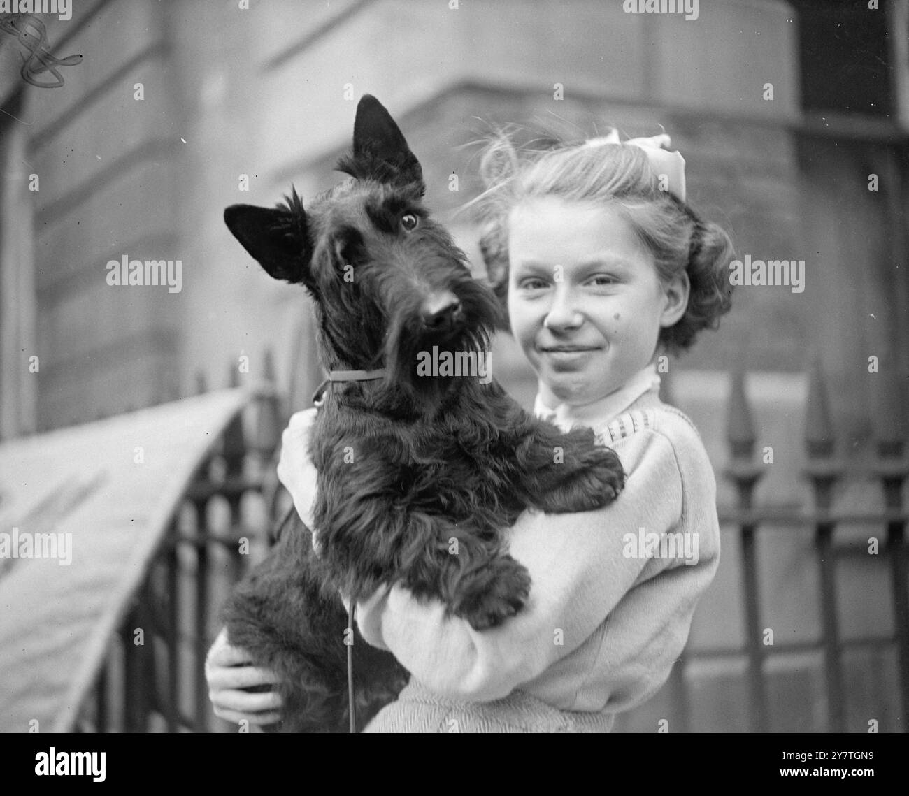
<svg viewBox="0 0 909 796">
<path fill-rule="evenodd" d="M 557 196 L 509 217 L 508 313 L 544 403 L 584 405 L 651 362 L 688 303 L 687 275 L 661 284 L 653 255 L 613 210 Z"/>
</svg>

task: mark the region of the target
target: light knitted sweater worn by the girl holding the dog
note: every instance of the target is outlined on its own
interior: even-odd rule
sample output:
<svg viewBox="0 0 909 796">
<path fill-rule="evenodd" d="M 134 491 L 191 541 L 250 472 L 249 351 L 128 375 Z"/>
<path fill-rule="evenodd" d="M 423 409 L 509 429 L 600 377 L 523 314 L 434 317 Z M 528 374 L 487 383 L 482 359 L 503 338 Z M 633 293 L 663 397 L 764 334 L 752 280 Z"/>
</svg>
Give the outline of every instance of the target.
<svg viewBox="0 0 909 796">
<path fill-rule="evenodd" d="M 563 429 L 591 426 L 627 480 L 604 509 L 518 518 L 510 552 L 533 580 L 521 612 L 478 632 L 445 618 L 441 602 L 395 586 L 358 603 L 365 640 L 394 652 L 423 692 L 455 702 L 514 692 L 509 699 L 560 711 L 614 714 L 653 696 L 684 648 L 720 552 L 713 469 L 694 425 L 659 400 L 658 385 L 649 365 L 584 407 L 552 413 L 537 397 L 535 412 Z"/>
</svg>

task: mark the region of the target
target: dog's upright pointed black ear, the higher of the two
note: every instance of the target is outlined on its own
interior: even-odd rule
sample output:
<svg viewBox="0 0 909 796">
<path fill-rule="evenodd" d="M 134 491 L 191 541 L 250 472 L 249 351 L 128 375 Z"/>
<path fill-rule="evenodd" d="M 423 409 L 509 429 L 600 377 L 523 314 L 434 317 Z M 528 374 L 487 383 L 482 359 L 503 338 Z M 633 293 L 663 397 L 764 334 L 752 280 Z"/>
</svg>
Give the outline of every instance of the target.
<svg viewBox="0 0 909 796">
<path fill-rule="evenodd" d="M 343 158 L 338 168 L 357 179 L 417 184 L 421 193 L 425 191 L 420 162 L 385 105 L 373 95 L 363 95 L 356 106 L 354 154 Z"/>
</svg>

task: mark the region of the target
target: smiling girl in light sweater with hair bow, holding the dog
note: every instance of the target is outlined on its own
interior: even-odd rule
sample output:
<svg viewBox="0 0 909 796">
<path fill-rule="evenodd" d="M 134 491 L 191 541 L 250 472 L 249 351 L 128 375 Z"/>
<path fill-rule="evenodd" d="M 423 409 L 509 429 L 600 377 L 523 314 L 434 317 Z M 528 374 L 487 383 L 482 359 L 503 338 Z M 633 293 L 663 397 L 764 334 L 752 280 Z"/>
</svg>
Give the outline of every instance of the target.
<svg viewBox="0 0 909 796">
<path fill-rule="evenodd" d="M 411 672 L 365 731 L 609 731 L 682 652 L 719 562 L 715 483 L 694 425 L 658 397 L 656 361 L 728 311 L 732 247 L 685 204 L 684 160 L 668 144 L 612 134 L 522 153 L 502 136 L 484 154 L 484 259 L 539 376 L 535 412 L 591 426 L 621 458 L 625 488 L 599 511 L 518 518 L 510 552 L 531 592 L 499 627 L 474 631 L 400 586 L 358 604 L 365 640 Z M 312 418 L 291 420 L 278 471 L 305 520 Z M 263 682 L 270 672 L 222 633 L 209 656 L 215 713 L 274 721 L 275 694 L 237 691 Z"/>
</svg>

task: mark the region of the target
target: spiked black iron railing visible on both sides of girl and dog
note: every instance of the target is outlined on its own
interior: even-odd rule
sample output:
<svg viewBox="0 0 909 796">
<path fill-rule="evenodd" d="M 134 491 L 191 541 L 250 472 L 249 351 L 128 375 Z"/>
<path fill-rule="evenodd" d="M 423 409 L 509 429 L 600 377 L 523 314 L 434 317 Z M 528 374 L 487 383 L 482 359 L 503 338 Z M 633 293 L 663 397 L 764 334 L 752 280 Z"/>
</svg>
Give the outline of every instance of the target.
<svg viewBox="0 0 909 796">
<path fill-rule="evenodd" d="M 276 482 L 274 455 L 286 416 L 275 390 L 271 357 L 266 357 L 265 388 L 229 425 L 216 453 L 205 462 L 185 500 L 175 512 L 171 531 L 145 584 L 135 595 L 121 630 L 111 642 L 107 661 L 98 672 L 94 697 L 81 711 L 76 729 L 84 731 L 236 731 L 214 718 L 205 683 L 205 653 L 218 631 L 217 609 L 230 587 L 269 543 L 275 519 L 289 506 L 289 497 Z M 231 367 L 231 383 L 236 370 Z M 204 385 L 200 386 L 204 390 Z M 894 391 L 881 394 L 892 396 Z M 727 412 L 730 459 L 724 476 L 734 485 L 734 507 L 721 509 L 721 525 L 734 528 L 741 540 L 737 569 L 744 594 L 744 645 L 730 649 L 689 649 L 674 667 L 667 688 L 674 713 L 674 731 L 692 729 L 691 689 L 687 673 L 695 662 L 735 657 L 744 659 L 748 727 L 774 731 L 768 686 L 768 662 L 787 652 L 820 652 L 824 658 L 825 729 L 847 727 L 844 697 L 844 652 L 856 647 L 892 648 L 898 662 L 898 701 L 902 728 L 909 720 L 909 604 L 906 587 L 904 531 L 907 514 L 903 485 L 909 474 L 905 458 L 904 407 L 885 398 L 878 407 L 888 422 L 875 439 L 876 461 L 871 475 L 882 488 L 880 509 L 874 512 L 834 511 L 834 488 L 854 473 L 836 458 L 834 426 L 828 409 L 824 378 L 818 367 L 810 376 L 806 408 L 804 476 L 808 509 L 774 509 L 755 505 L 755 486 L 765 468 L 755 462 L 752 413 L 744 391 L 744 373 L 733 375 Z M 868 473 L 864 473 L 867 475 Z M 254 509 L 250 511 L 250 503 Z M 220 513 L 220 520 L 217 515 Z M 836 562 L 851 554 L 835 543 L 844 524 L 882 529 L 884 544 L 877 565 L 892 584 L 893 633 L 844 640 L 837 611 Z M 820 632 L 812 642 L 763 641 L 758 546 L 765 528 L 810 528 L 820 589 Z M 766 540 L 766 536 L 763 537 Z M 145 642 L 135 642 L 135 631 Z"/>
</svg>

